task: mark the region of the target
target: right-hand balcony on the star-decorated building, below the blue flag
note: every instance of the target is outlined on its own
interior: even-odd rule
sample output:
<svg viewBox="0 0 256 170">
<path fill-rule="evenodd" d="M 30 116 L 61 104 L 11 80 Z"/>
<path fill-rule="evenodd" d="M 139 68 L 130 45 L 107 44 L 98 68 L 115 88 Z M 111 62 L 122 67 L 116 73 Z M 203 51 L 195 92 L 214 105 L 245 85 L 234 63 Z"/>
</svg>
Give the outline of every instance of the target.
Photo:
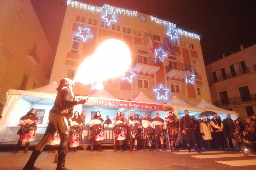
<svg viewBox="0 0 256 170">
<path fill-rule="evenodd" d="M 192 74 L 192 67 L 188 64 L 182 64 L 178 62 L 170 62 L 166 67 L 166 76 L 170 78 L 182 80 Z"/>
</svg>

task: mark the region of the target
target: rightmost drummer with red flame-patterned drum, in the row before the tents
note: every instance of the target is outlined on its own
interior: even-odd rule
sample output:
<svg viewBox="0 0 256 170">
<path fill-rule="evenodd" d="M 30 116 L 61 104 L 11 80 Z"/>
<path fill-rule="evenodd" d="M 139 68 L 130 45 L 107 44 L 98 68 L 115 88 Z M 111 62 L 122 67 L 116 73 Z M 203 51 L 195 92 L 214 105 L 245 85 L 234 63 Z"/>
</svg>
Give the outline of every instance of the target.
<svg viewBox="0 0 256 170">
<path fill-rule="evenodd" d="M 122 140 L 126 139 L 126 136 L 125 136 L 126 123 L 124 122 L 124 118 L 122 117 L 121 112 L 117 112 L 117 115 L 114 118 L 114 121 L 112 124 L 115 125 L 114 126 L 114 129 L 115 129 L 114 152 L 116 152 L 117 140 L 119 140 L 120 151 L 123 152 L 124 150 L 122 149 Z"/>
</svg>

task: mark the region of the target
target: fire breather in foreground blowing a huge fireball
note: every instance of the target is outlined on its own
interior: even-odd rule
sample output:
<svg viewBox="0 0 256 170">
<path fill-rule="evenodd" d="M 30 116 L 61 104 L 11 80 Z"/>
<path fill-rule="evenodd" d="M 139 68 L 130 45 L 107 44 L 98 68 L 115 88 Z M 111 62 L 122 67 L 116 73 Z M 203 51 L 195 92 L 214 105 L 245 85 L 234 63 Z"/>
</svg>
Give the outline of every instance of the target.
<svg viewBox="0 0 256 170">
<path fill-rule="evenodd" d="M 73 115 L 73 106 L 84 104 L 86 102 L 85 99 L 74 100 L 74 93 L 72 91 L 73 86 L 73 81 L 68 78 L 60 80 L 60 84 L 56 88 L 57 96 L 54 106 L 49 113 L 50 122 L 45 130 L 42 140 L 35 146 L 23 170 L 40 170 L 40 168 L 36 168 L 34 164 L 55 131 L 60 135 L 58 163 L 55 170 L 68 170 L 65 167 L 65 158 L 69 142 L 68 121 L 72 123 L 71 117 Z"/>
</svg>

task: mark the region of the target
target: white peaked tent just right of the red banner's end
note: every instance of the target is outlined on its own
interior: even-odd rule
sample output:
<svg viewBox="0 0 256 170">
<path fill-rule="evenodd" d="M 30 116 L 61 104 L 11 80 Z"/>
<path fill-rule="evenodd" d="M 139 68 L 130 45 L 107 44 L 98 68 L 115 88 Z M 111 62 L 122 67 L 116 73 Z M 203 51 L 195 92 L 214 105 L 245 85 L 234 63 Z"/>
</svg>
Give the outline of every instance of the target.
<svg viewBox="0 0 256 170">
<path fill-rule="evenodd" d="M 201 112 L 205 111 L 202 108 L 190 105 L 190 104 L 182 101 L 181 99 L 179 99 L 176 96 L 173 96 L 173 98 L 169 102 L 167 102 L 167 105 L 172 106 L 174 114 L 176 116 L 176 119 L 178 119 L 178 117 L 180 118 L 180 117 L 184 116 L 184 111 L 185 110 L 189 111 L 190 116 L 198 115 Z"/>
</svg>

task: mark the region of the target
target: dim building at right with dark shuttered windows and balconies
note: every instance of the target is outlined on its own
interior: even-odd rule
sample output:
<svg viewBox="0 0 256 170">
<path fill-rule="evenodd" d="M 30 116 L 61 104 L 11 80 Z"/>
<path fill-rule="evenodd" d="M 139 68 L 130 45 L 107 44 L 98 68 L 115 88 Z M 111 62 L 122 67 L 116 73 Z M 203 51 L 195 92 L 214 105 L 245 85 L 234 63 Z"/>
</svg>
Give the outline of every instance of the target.
<svg viewBox="0 0 256 170">
<path fill-rule="evenodd" d="M 256 45 L 206 65 L 213 104 L 246 118 L 256 113 Z"/>
</svg>

